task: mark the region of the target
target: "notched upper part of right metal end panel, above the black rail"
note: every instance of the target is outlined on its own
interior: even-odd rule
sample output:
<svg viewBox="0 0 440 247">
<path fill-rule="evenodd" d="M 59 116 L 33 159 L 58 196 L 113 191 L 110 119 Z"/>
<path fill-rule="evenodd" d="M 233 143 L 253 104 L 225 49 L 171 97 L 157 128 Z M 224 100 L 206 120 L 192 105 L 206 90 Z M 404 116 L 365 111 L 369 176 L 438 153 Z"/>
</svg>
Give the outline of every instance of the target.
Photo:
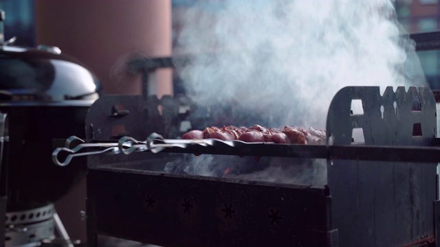
<svg viewBox="0 0 440 247">
<path fill-rule="evenodd" d="M 364 114 L 351 114 L 353 99 L 362 100 Z M 348 86 L 331 102 L 327 139 L 331 135 L 334 145 L 350 145 L 353 128 L 363 128 L 366 145 L 427 145 L 437 133 L 435 113 L 434 95 L 423 86 L 408 92 L 388 86 L 382 96 L 378 86 Z M 413 138 L 415 124 L 420 124 L 421 138 Z"/>
</svg>

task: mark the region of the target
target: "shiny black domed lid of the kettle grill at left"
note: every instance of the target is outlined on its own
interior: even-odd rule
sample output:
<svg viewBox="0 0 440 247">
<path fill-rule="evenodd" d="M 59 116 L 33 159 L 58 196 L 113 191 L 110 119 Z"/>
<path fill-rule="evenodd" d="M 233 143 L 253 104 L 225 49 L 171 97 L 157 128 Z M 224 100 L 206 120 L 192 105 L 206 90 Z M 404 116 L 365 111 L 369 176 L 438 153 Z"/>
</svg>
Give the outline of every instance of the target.
<svg viewBox="0 0 440 247">
<path fill-rule="evenodd" d="M 87 67 L 58 47 L 14 46 L 5 41 L 4 12 L 0 10 L 0 103 L 94 102 L 100 83 Z"/>
</svg>

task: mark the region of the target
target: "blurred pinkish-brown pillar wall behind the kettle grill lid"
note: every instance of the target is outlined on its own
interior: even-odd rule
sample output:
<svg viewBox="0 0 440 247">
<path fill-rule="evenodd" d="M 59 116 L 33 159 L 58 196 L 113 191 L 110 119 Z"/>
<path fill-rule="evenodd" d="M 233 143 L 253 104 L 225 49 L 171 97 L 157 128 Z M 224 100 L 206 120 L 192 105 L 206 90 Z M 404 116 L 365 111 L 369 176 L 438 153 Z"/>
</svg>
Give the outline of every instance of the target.
<svg viewBox="0 0 440 247">
<path fill-rule="evenodd" d="M 170 0 L 36 0 L 35 13 L 36 43 L 88 64 L 105 93 L 140 93 L 139 75 L 119 73 L 132 53 L 171 55 Z M 170 73 L 157 78 L 157 93 L 172 93 Z"/>
</svg>

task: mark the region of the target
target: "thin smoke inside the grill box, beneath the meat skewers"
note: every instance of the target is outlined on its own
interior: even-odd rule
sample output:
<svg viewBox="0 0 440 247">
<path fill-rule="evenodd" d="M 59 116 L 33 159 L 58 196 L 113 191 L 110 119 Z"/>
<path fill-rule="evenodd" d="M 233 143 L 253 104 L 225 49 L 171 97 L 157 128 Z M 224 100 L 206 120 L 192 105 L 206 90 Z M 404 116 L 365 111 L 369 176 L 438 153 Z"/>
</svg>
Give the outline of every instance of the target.
<svg viewBox="0 0 440 247">
<path fill-rule="evenodd" d="M 271 183 L 324 186 L 327 161 L 285 157 L 238 157 L 186 154 L 168 162 L 164 171 L 223 178 L 239 178 Z"/>
</svg>

